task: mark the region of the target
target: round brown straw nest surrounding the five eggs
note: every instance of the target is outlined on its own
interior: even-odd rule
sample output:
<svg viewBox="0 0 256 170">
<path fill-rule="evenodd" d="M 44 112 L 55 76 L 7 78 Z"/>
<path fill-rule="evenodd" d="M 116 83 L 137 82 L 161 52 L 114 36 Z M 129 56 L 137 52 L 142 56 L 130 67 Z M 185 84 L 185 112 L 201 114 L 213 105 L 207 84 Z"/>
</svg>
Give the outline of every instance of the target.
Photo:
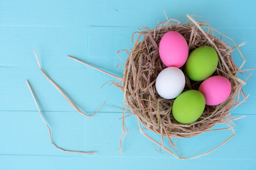
<svg viewBox="0 0 256 170">
<path fill-rule="evenodd" d="M 174 99 L 168 100 L 161 98 L 156 92 L 156 77 L 162 69 L 166 68 L 159 57 L 159 42 L 162 36 L 170 30 L 177 31 L 183 35 L 188 42 L 189 52 L 201 46 L 213 47 L 218 53 L 219 59 L 218 67 L 213 75 L 226 77 L 232 84 L 231 94 L 225 102 L 218 106 L 206 106 L 201 117 L 189 124 L 178 123 L 174 119 L 174 116 L 171 113 Z M 164 136 L 168 138 L 169 144 L 175 150 L 171 137 L 194 137 L 203 132 L 212 131 L 210 129 L 217 123 L 223 123 L 228 126 L 227 128 L 218 130 L 233 130 L 231 123 L 235 118 L 230 115 L 230 110 L 246 101 L 247 98 L 242 91 L 242 86 L 245 85 L 246 79 L 241 80 L 238 78 L 238 73 L 242 72 L 242 65 L 245 63 L 245 58 L 239 50 L 240 45 L 236 45 L 235 42 L 229 38 L 233 41 L 235 46 L 230 47 L 227 43 L 221 40 L 221 37 L 223 36 L 228 38 L 226 35 L 223 35 L 214 28 L 210 28 L 205 22 L 197 22 L 191 16 L 188 16 L 188 22 L 183 25 L 181 25 L 180 21 L 174 19 L 168 20 L 167 18 L 166 22 L 158 23 L 153 30 L 149 30 L 149 28 L 145 27 L 136 33 L 139 34 L 139 36 L 134 43 L 132 51 L 129 53 L 127 62 L 125 63 L 124 75 L 122 78 L 123 84 L 122 86 L 119 86 L 119 88 L 124 91 L 125 106 L 132 111 L 132 115 L 137 117 L 142 134 L 164 148 L 167 152 L 174 154 L 175 157 L 184 159 L 178 156 L 178 152 L 175 153 L 175 151 L 171 151 L 164 146 Z M 215 33 L 218 33 L 220 38 L 217 38 Z M 244 43 L 241 45 L 243 44 Z M 231 52 L 235 49 L 240 52 L 240 55 L 244 60 L 240 67 L 235 65 L 231 56 Z M 184 72 L 183 67 L 181 67 L 181 70 Z M 184 74 L 186 77 L 186 86 L 183 91 L 191 89 L 198 90 L 201 81 L 192 81 L 188 78 L 186 72 L 184 72 Z M 242 100 L 240 100 L 240 96 L 243 96 Z M 141 123 L 147 130 L 151 130 L 161 135 L 161 142 L 156 142 L 156 140 L 149 137 L 149 135 L 146 135 L 142 130 Z M 234 135 L 235 132 L 233 130 L 233 135 L 227 137 L 228 140 Z M 223 143 L 228 140 L 225 140 Z M 221 145 L 223 145 L 223 143 Z M 220 147 L 220 145 L 218 147 Z M 216 148 L 217 147 L 214 149 Z"/>
</svg>

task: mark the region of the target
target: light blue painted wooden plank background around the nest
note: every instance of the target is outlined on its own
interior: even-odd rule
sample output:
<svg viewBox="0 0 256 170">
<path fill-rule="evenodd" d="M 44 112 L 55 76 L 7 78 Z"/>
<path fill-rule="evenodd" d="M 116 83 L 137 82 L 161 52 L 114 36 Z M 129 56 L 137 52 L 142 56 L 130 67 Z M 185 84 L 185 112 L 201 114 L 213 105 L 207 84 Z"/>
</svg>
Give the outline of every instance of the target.
<svg viewBox="0 0 256 170">
<path fill-rule="evenodd" d="M 117 51 L 131 47 L 139 26 L 153 28 L 169 18 L 186 21 L 196 14 L 240 44 L 247 62 L 255 67 L 255 1 L 0 1 L 0 169 L 256 169 L 255 74 L 244 87 L 249 101 L 232 113 L 247 115 L 235 121 L 237 135 L 211 154 L 181 161 L 139 133 L 137 120 L 127 118 L 129 132 L 124 153 L 119 154 L 122 134 L 122 92 L 102 84 L 111 78 L 68 59 L 73 55 L 109 72 L 122 75 Z M 233 46 L 230 41 L 230 46 Z M 41 74 L 33 55 L 38 52 L 49 76 L 87 113 L 85 118 Z M 125 60 L 127 56 L 121 53 Z M 235 63 L 242 60 L 233 52 Z M 240 75 L 245 77 L 247 72 Z M 65 149 L 95 151 L 96 155 L 60 152 L 50 145 L 48 131 L 33 103 L 26 79 L 38 97 L 53 130 L 53 140 Z M 220 127 L 220 126 L 218 126 Z M 216 127 L 216 128 L 218 128 Z M 158 135 L 148 132 L 156 140 Z M 231 132 L 210 132 L 178 140 L 184 156 L 201 154 L 220 144 Z"/>
</svg>

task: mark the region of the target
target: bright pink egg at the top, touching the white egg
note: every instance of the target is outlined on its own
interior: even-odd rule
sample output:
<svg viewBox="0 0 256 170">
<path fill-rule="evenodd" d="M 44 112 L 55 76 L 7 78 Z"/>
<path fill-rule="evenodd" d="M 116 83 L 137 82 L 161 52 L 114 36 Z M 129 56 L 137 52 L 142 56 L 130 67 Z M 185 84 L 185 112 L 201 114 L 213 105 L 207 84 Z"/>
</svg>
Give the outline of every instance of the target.
<svg viewBox="0 0 256 170">
<path fill-rule="evenodd" d="M 167 67 L 182 67 L 188 59 L 188 43 L 180 33 L 169 31 L 161 38 L 159 55 Z"/>
</svg>

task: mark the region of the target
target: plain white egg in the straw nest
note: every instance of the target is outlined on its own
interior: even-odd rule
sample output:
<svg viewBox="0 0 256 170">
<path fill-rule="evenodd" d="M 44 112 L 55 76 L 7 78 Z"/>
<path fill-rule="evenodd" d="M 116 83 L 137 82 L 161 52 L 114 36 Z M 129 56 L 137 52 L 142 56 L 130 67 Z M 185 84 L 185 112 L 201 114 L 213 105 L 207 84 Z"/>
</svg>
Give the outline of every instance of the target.
<svg viewBox="0 0 256 170">
<path fill-rule="evenodd" d="M 176 98 L 183 91 L 185 82 L 181 69 L 167 67 L 156 78 L 156 91 L 162 98 Z"/>
</svg>

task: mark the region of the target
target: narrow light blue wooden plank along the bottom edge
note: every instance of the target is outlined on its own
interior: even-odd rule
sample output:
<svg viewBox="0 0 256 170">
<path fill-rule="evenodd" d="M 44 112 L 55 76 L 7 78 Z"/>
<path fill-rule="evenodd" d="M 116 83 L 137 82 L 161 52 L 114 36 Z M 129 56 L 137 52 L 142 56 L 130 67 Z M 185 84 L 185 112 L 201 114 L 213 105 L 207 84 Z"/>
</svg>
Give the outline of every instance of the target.
<svg viewBox="0 0 256 170">
<path fill-rule="evenodd" d="M 255 169 L 255 160 L 252 159 L 194 159 L 181 161 L 168 157 L 43 157 L 43 156 L 0 156 L 0 168 L 55 170 L 55 169 Z M 14 163 L 15 162 L 15 163 Z M 214 164 L 213 164 L 214 162 Z"/>
</svg>

